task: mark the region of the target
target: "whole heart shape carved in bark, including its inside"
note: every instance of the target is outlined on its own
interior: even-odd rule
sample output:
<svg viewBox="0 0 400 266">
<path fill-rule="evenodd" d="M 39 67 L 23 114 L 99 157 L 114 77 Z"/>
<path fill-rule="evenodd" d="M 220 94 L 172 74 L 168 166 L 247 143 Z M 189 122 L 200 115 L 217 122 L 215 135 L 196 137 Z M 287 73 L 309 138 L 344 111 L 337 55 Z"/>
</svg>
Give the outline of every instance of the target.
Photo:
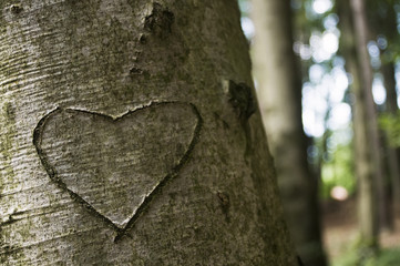
<svg viewBox="0 0 400 266">
<path fill-rule="evenodd" d="M 199 129 L 188 103 L 152 103 L 116 119 L 57 109 L 33 143 L 50 178 L 122 232 L 186 163 Z"/>
</svg>

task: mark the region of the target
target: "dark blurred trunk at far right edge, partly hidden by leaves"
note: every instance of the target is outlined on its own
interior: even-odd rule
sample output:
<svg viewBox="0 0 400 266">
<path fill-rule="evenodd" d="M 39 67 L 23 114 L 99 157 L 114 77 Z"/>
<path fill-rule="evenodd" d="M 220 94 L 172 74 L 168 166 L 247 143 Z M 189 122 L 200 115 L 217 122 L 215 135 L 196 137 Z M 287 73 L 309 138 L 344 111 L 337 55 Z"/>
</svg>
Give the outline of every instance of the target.
<svg viewBox="0 0 400 266">
<path fill-rule="evenodd" d="M 378 110 L 379 114 L 397 110 L 397 93 L 394 80 L 394 51 L 397 42 L 397 14 L 391 0 L 367 1 L 366 13 L 369 21 L 370 39 L 376 39 L 382 49 L 380 72 L 384 79 L 387 101 L 384 106 Z M 383 42 L 387 42 L 384 45 Z M 377 69 L 377 68 L 376 68 Z M 396 150 L 390 147 L 382 131 L 378 131 L 380 137 L 380 151 L 382 152 L 382 182 L 379 185 L 379 228 L 393 231 L 393 197 L 399 193 L 399 168 Z"/>
</svg>

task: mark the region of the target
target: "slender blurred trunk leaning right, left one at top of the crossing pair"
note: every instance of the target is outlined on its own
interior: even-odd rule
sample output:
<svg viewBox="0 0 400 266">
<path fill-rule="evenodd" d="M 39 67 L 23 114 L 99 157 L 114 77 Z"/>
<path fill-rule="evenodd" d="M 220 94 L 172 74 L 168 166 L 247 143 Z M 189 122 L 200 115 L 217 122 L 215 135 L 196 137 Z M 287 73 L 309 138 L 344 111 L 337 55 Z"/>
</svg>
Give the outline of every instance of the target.
<svg viewBox="0 0 400 266">
<path fill-rule="evenodd" d="M 355 95 L 353 131 L 355 131 L 355 164 L 358 181 L 358 224 L 360 245 L 376 249 L 378 247 L 378 215 L 376 204 L 375 168 L 372 149 L 368 134 L 368 115 L 366 108 L 366 90 L 362 89 L 359 68 L 359 54 L 356 49 L 355 28 L 350 3 L 347 0 L 337 1 L 340 18 L 340 47 L 346 59 L 346 69 L 352 75 L 351 92 Z M 363 248 L 361 248 L 361 252 Z"/>
</svg>

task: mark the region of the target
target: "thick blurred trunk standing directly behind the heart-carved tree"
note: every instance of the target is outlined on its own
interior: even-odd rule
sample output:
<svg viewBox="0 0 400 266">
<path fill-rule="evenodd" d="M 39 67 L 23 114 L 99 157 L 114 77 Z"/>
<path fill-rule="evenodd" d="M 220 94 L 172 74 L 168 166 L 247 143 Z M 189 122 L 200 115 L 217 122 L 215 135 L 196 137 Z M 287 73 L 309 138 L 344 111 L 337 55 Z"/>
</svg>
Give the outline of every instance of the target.
<svg viewBox="0 0 400 266">
<path fill-rule="evenodd" d="M 253 0 L 254 63 L 263 120 L 276 158 L 285 215 L 306 265 L 326 265 L 317 178 L 307 162 L 301 78 L 293 51 L 290 1 Z"/>
</svg>

